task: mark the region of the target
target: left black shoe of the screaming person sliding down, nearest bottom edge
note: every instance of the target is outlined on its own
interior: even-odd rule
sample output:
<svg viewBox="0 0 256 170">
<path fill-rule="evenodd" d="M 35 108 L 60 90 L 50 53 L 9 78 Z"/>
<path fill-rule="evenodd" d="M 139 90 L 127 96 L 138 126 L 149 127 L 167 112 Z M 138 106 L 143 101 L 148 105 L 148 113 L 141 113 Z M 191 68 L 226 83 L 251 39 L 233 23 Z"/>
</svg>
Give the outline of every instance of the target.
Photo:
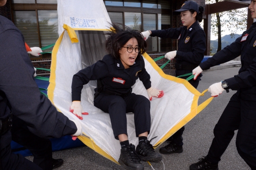
<svg viewBox="0 0 256 170">
<path fill-rule="evenodd" d="M 133 144 L 121 148 L 118 162 L 126 170 L 144 170 L 144 166 L 140 163 L 139 156 L 136 154 L 135 146 Z"/>
</svg>

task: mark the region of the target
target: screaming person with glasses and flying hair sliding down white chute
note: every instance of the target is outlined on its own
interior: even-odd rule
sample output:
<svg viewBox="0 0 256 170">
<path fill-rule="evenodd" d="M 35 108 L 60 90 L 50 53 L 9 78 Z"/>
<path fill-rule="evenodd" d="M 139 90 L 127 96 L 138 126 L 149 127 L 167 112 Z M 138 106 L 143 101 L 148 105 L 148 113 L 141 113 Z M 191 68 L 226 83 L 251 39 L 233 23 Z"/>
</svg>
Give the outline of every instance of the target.
<svg viewBox="0 0 256 170">
<path fill-rule="evenodd" d="M 97 80 L 94 106 L 109 113 L 114 137 L 120 140 L 120 165 L 127 170 L 144 170 L 143 161 L 159 162 L 162 155 L 154 152 L 147 135 L 150 133 L 150 101 L 132 93 L 132 85 L 139 78 L 147 89 L 149 99 L 162 97 L 163 92 L 151 87 L 150 75 L 145 69 L 141 54 L 146 52 L 146 41 L 138 30 L 125 30 L 113 24 L 112 32 L 106 41 L 109 52 L 102 60 L 80 70 L 72 80 L 72 112 L 82 117 L 81 90 L 90 80 Z M 134 113 L 136 147 L 129 144 L 126 113 Z M 137 153 L 137 154 L 136 154 Z"/>
</svg>

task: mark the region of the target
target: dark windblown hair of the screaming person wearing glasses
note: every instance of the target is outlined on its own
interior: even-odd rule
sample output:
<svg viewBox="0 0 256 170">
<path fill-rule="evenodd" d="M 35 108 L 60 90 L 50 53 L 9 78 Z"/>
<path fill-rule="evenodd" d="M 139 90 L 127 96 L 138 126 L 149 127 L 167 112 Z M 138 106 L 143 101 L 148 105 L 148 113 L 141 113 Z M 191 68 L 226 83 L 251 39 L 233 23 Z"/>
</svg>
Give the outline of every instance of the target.
<svg viewBox="0 0 256 170">
<path fill-rule="evenodd" d="M 119 51 L 124 46 L 124 44 L 126 44 L 131 38 L 136 38 L 140 48 L 138 56 L 144 54 L 146 52 L 147 42 L 144 40 L 143 35 L 138 30 L 132 30 L 128 26 L 124 26 L 120 23 L 117 24 L 112 23 L 112 27 L 110 28 L 111 32 L 106 33 L 109 35 L 106 41 L 107 52 L 111 54 L 115 59 L 119 59 Z M 124 29 L 121 29 L 119 25 Z M 137 59 L 139 59 L 139 57 L 137 57 L 136 60 Z"/>
</svg>

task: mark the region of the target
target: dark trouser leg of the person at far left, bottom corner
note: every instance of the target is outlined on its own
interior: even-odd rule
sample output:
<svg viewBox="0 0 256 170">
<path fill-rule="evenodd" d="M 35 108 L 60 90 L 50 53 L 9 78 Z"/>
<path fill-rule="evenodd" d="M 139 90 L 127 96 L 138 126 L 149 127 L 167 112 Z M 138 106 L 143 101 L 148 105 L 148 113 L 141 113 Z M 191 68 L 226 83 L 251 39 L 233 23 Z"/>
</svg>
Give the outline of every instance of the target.
<svg viewBox="0 0 256 170">
<path fill-rule="evenodd" d="M 34 156 L 33 162 L 43 170 L 52 170 L 52 143 L 49 139 L 38 137 L 31 133 L 23 120 L 13 116 L 11 129 L 12 140 L 30 150 Z"/>
</svg>

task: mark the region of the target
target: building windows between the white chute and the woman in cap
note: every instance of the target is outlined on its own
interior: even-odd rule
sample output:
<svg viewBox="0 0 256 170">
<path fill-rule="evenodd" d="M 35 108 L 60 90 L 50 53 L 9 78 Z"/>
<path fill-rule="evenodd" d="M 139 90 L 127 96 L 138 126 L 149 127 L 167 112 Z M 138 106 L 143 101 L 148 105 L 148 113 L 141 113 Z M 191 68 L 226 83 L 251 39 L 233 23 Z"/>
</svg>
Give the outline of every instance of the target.
<svg viewBox="0 0 256 170">
<path fill-rule="evenodd" d="M 120 3 L 120 7 L 116 7 L 117 2 Z M 114 23 L 123 23 L 139 31 L 162 30 L 171 27 L 169 0 L 106 0 L 105 5 Z M 147 52 L 172 51 L 171 42 L 170 38 L 149 37 Z"/>
</svg>

